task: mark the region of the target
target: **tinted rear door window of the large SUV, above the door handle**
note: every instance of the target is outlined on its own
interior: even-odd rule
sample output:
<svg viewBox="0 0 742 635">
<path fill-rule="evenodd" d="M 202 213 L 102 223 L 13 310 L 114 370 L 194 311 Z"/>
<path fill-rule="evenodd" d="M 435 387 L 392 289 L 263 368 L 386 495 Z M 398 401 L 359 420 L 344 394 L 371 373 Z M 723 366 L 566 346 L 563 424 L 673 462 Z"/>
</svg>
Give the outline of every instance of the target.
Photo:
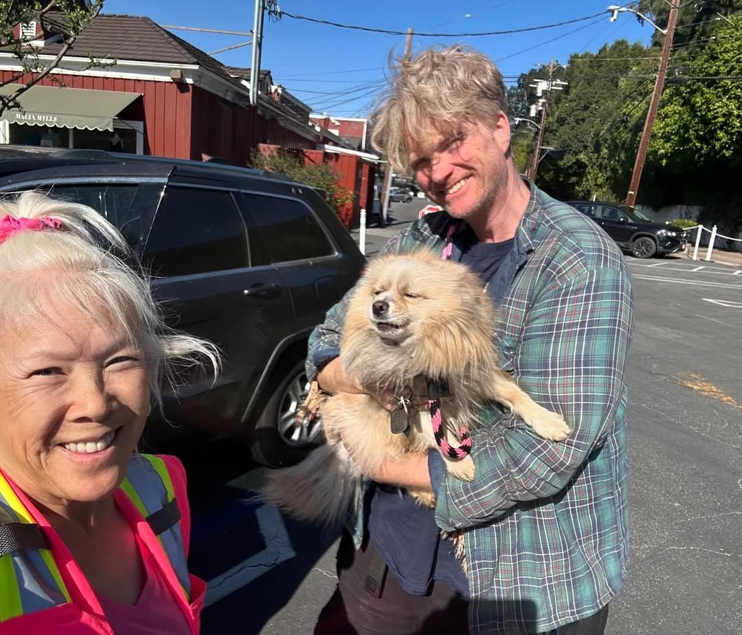
<svg viewBox="0 0 742 635">
<path fill-rule="evenodd" d="M 232 194 L 168 187 L 154 217 L 145 262 L 157 276 L 246 267 L 245 225 Z"/>
</svg>

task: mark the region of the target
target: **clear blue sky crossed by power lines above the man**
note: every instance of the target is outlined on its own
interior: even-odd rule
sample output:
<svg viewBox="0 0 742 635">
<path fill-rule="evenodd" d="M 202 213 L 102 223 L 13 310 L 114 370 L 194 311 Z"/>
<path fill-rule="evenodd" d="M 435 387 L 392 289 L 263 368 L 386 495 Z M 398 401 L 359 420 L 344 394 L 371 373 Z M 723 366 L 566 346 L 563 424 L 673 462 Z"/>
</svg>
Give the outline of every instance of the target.
<svg viewBox="0 0 742 635">
<path fill-rule="evenodd" d="M 418 33 L 477 33 L 553 24 L 605 11 L 616 0 L 282 0 L 282 10 L 342 24 Z M 624 3 L 625 4 L 625 3 Z M 251 0 L 106 0 L 105 13 L 148 16 L 160 24 L 249 31 Z M 464 42 L 498 61 L 508 83 L 551 59 L 565 62 L 570 53 L 596 51 L 608 42 L 628 39 L 649 43 L 653 28 L 630 13 L 610 22 L 602 16 L 547 30 L 504 36 L 444 38 L 415 36 L 413 49 Z M 174 31 L 207 52 L 249 38 Z M 553 40 L 553 42 L 552 42 Z M 266 16 L 262 68 L 315 111 L 364 116 L 384 79 L 390 50 L 404 49 L 404 36 L 346 30 L 284 16 Z M 251 47 L 214 56 L 227 65 L 249 67 Z"/>
</svg>

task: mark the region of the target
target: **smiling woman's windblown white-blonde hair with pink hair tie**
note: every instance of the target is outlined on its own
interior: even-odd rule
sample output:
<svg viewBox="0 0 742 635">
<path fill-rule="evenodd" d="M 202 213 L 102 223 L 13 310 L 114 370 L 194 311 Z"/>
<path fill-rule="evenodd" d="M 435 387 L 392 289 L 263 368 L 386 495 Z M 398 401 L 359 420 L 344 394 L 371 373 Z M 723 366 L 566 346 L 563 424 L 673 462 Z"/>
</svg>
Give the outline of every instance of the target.
<svg viewBox="0 0 742 635">
<path fill-rule="evenodd" d="M 103 327 L 123 326 L 146 360 L 152 397 L 162 407 L 162 390 L 182 383 L 194 366 L 220 369 L 214 344 L 165 325 L 147 278 L 122 234 L 87 205 L 38 192 L 0 201 L 0 217 L 42 219 L 61 228 L 16 231 L 0 243 L 0 328 L 15 323 L 33 329 L 45 315 L 39 292 L 54 293 Z"/>
</svg>

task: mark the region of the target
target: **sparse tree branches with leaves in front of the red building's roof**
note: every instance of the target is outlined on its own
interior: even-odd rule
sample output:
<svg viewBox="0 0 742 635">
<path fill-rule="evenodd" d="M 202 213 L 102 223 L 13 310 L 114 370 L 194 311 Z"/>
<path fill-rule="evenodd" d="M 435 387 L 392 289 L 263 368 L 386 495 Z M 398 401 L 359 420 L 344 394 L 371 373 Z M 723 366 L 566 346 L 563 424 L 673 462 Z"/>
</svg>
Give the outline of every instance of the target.
<svg viewBox="0 0 742 635">
<path fill-rule="evenodd" d="M 104 0 L 0 0 L 0 47 L 10 50 L 19 59 L 22 71 L 0 82 L 0 88 L 21 83 L 10 93 L 0 93 L 0 114 L 8 108 L 18 108 L 19 97 L 31 86 L 39 83 L 67 55 L 70 47 L 93 19 L 100 13 Z M 44 62 L 34 47 L 33 38 L 15 33 L 16 24 L 41 24 L 45 33 L 62 36 L 63 46 L 51 62 Z M 101 65 L 91 59 L 89 66 Z M 24 76 L 31 79 L 24 81 Z M 61 82 L 60 82 L 61 83 Z"/>
</svg>

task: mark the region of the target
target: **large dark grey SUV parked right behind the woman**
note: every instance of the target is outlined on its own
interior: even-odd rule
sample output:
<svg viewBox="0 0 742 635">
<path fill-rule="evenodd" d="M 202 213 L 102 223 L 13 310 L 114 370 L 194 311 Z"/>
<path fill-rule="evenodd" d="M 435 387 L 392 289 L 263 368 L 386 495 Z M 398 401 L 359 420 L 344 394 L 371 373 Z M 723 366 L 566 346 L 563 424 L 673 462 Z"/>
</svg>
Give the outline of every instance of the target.
<svg viewBox="0 0 742 635">
<path fill-rule="evenodd" d="M 0 146 L 0 195 L 30 189 L 91 205 L 119 227 L 154 274 L 171 326 L 223 352 L 215 384 L 194 376 L 166 395 L 165 421 L 145 431 L 149 449 L 206 432 L 279 466 L 321 441 L 318 424 L 293 427 L 309 389 L 306 342 L 364 257 L 315 189 L 215 163 Z"/>
</svg>

